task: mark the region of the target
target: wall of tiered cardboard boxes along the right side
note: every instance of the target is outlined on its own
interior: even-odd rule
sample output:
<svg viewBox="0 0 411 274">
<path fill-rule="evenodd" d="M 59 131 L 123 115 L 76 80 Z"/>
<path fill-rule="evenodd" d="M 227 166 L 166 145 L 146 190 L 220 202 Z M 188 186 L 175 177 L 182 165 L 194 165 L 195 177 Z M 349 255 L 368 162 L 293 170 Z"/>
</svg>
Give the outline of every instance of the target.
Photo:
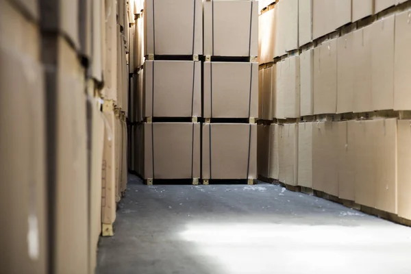
<svg viewBox="0 0 411 274">
<path fill-rule="evenodd" d="M 410 2 L 262 10 L 260 177 L 411 219 Z"/>
</svg>

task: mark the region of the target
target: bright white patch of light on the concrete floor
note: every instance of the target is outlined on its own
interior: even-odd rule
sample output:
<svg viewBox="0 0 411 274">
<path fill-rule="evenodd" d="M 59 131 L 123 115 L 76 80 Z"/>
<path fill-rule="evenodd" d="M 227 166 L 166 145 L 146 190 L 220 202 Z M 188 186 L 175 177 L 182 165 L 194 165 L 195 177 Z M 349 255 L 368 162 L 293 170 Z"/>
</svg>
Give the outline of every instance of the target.
<svg viewBox="0 0 411 274">
<path fill-rule="evenodd" d="M 223 274 L 411 273 L 405 227 L 190 224 L 180 236 Z"/>
</svg>

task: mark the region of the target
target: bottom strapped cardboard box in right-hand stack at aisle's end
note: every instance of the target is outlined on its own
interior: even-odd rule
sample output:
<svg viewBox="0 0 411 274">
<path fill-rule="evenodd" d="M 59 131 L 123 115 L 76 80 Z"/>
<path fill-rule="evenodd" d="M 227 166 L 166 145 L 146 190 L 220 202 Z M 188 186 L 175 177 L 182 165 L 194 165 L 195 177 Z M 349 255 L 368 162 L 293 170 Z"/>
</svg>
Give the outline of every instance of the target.
<svg viewBox="0 0 411 274">
<path fill-rule="evenodd" d="M 203 179 L 256 179 L 257 125 L 203 124 L 202 154 Z"/>
</svg>

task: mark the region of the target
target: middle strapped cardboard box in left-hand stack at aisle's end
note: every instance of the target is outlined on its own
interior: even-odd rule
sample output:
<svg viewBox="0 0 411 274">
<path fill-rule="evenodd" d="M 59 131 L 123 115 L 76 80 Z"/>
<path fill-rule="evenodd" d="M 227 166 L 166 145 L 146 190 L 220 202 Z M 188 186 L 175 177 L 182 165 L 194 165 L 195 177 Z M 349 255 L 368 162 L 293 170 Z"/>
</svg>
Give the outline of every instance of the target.
<svg viewBox="0 0 411 274">
<path fill-rule="evenodd" d="M 201 62 L 146 61 L 144 70 L 143 117 L 201 116 Z"/>
</svg>

